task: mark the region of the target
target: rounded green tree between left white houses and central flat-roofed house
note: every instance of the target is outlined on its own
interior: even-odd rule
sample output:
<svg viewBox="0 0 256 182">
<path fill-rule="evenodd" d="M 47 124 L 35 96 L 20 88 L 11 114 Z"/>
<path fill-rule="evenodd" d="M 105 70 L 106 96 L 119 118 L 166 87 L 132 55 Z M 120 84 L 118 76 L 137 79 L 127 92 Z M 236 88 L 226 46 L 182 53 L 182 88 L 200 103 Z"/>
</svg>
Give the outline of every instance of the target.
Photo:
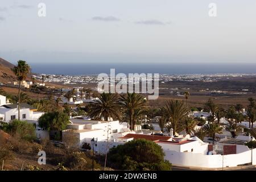
<svg viewBox="0 0 256 182">
<path fill-rule="evenodd" d="M 68 123 L 68 114 L 61 111 L 43 114 L 38 119 L 39 127 L 47 131 L 61 131 L 65 130 Z"/>
</svg>

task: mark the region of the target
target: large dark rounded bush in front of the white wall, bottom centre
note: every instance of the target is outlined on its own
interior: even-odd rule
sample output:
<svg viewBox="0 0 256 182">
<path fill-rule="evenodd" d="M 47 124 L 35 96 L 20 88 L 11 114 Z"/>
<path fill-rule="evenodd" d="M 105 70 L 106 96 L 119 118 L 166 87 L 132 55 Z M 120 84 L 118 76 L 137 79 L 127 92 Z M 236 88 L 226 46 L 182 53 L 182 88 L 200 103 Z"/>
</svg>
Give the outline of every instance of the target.
<svg viewBox="0 0 256 182">
<path fill-rule="evenodd" d="M 132 140 L 109 151 L 109 164 L 123 170 L 171 170 L 171 164 L 164 160 L 163 149 L 145 139 Z"/>
</svg>

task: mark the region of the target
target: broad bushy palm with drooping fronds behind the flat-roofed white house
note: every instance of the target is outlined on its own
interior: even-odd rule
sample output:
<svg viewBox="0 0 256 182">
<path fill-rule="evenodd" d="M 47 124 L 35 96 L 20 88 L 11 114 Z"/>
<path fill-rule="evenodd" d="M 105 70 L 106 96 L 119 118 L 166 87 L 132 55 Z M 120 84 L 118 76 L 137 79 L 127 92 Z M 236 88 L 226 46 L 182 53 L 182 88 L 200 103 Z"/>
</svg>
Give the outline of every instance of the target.
<svg viewBox="0 0 256 182">
<path fill-rule="evenodd" d="M 118 103 L 117 94 L 102 93 L 98 100 L 90 105 L 88 116 L 102 121 L 109 121 L 110 118 L 118 120 L 122 117 L 122 111 Z"/>
</svg>

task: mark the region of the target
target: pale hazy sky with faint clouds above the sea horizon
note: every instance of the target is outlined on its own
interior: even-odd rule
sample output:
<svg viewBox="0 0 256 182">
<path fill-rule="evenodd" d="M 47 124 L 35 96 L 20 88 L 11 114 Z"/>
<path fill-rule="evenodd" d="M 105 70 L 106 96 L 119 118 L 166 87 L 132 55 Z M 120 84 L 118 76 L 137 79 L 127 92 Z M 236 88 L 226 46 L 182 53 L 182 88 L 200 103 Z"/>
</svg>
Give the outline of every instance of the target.
<svg viewBox="0 0 256 182">
<path fill-rule="evenodd" d="M 46 4 L 46 17 L 38 4 Z M 209 17 L 209 3 L 217 17 Z M 1 0 L 0 57 L 28 63 L 256 62 L 255 0 Z"/>
</svg>

